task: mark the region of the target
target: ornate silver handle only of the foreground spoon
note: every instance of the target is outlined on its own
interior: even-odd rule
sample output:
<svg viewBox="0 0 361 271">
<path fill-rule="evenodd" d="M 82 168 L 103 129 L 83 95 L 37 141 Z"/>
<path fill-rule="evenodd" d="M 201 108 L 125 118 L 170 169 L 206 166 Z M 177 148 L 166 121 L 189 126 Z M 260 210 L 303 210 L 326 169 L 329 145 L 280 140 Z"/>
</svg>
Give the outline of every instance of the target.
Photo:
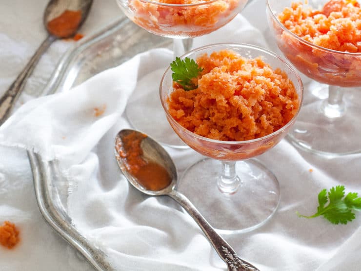
<svg viewBox="0 0 361 271">
<path fill-rule="evenodd" d="M 227 264 L 230 271 L 259 271 L 250 263 L 242 260 L 230 245 L 219 235 L 212 226 L 205 220 L 197 208 L 183 194 L 172 190 L 167 194 L 177 201 L 201 227 L 205 236 L 211 242 L 213 248 Z"/>
</svg>

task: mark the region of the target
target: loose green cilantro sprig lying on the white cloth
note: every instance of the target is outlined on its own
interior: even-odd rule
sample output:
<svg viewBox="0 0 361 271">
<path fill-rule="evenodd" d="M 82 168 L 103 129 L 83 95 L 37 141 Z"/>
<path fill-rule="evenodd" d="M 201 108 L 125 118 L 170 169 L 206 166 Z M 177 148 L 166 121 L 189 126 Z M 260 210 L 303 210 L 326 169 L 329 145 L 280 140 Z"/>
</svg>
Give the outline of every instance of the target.
<svg viewBox="0 0 361 271">
<path fill-rule="evenodd" d="M 314 218 L 322 215 L 332 224 L 347 224 L 355 219 L 354 210 L 361 210 L 361 198 L 357 193 L 348 193 L 345 197 L 345 187 L 336 186 L 327 193 L 326 189 L 319 193 L 319 207 L 313 215 L 306 216 L 296 212 L 299 217 Z M 326 204 L 328 205 L 326 206 Z"/>
</svg>

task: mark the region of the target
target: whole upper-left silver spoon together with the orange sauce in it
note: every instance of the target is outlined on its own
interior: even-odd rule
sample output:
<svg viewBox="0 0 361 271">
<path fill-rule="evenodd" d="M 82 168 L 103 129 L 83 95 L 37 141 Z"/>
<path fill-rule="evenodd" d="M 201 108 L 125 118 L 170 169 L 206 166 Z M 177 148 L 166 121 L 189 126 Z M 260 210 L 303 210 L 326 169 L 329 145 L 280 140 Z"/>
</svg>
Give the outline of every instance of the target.
<svg viewBox="0 0 361 271">
<path fill-rule="evenodd" d="M 0 125 L 10 116 L 25 83 L 32 74 L 43 53 L 54 41 L 73 37 L 88 16 L 93 0 L 50 0 L 47 4 L 43 23 L 48 32 L 46 39 L 20 72 L 15 81 L 0 97 Z"/>
</svg>

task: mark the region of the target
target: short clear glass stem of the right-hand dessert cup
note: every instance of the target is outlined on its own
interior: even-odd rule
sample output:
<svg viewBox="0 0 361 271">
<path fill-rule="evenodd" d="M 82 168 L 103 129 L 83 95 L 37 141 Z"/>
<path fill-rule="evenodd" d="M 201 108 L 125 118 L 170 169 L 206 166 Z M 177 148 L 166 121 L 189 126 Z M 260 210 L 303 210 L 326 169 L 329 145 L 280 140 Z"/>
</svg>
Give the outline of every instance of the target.
<svg viewBox="0 0 361 271">
<path fill-rule="evenodd" d="M 322 113 L 330 119 L 340 118 L 345 113 L 345 103 L 342 100 L 343 92 L 339 86 L 328 87 L 328 99 L 322 104 Z"/>
</svg>

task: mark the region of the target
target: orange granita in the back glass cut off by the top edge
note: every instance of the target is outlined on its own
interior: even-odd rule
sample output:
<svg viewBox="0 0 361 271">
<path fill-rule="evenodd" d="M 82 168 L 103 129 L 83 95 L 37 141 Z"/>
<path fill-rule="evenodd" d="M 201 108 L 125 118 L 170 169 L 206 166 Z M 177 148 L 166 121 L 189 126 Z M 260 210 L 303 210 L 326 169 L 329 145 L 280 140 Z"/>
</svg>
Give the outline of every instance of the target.
<svg viewBox="0 0 361 271">
<path fill-rule="evenodd" d="M 152 3 L 153 2 L 153 3 Z M 129 0 L 132 19 L 150 32 L 163 36 L 196 37 L 210 33 L 230 21 L 240 2 L 246 0 Z M 207 3 L 209 2 L 209 3 Z M 165 4 L 200 4 L 166 6 Z M 231 16 L 230 16 L 231 15 Z"/>
</svg>

